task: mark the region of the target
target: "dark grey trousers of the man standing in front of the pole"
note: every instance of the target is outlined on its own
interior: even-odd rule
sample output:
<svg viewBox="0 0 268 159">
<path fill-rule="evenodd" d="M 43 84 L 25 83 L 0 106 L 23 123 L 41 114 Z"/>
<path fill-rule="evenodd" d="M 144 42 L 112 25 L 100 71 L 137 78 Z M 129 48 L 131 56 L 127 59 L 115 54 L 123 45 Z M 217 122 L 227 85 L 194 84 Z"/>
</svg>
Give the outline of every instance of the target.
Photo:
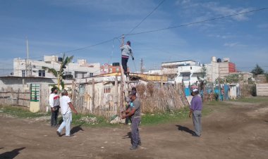
<svg viewBox="0 0 268 159">
<path fill-rule="evenodd" d="M 131 117 L 132 125 L 131 125 L 131 137 L 132 137 L 132 146 L 138 146 L 140 142 L 140 117 Z"/>
</svg>

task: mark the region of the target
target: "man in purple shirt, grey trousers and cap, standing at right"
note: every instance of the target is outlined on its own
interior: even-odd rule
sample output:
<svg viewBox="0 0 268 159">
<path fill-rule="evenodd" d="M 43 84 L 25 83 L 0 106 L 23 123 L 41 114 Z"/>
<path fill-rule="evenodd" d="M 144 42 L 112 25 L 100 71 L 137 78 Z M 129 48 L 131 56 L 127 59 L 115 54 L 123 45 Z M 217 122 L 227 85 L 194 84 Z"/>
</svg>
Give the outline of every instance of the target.
<svg viewBox="0 0 268 159">
<path fill-rule="evenodd" d="M 193 89 L 192 101 L 190 102 L 189 117 L 193 118 L 193 126 L 195 127 L 195 134 L 193 136 L 200 137 L 202 132 L 201 117 L 202 117 L 202 98 L 198 96 L 198 90 Z"/>
</svg>

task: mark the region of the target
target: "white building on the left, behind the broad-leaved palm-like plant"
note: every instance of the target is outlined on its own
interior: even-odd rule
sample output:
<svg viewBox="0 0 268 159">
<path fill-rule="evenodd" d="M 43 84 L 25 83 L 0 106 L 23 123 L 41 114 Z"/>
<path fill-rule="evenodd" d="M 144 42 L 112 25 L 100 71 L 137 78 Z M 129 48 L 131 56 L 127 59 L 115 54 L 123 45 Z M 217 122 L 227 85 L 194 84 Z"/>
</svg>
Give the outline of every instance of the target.
<svg viewBox="0 0 268 159">
<path fill-rule="evenodd" d="M 43 70 L 42 66 L 59 70 L 62 58 L 58 56 L 44 56 L 44 61 L 25 60 L 14 58 L 13 76 L 17 77 L 46 77 L 54 78 L 54 75 Z M 64 72 L 73 78 L 92 77 L 100 74 L 100 63 L 87 63 L 86 60 L 78 60 L 78 63 L 69 63 Z"/>
</svg>

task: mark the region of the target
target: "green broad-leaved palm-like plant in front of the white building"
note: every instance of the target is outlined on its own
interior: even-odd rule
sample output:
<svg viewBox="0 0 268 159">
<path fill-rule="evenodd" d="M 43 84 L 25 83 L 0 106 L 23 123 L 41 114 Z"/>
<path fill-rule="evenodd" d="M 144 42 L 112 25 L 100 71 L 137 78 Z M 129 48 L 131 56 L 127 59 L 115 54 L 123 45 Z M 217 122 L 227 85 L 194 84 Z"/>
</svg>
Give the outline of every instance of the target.
<svg viewBox="0 0 268 159">
<path fill-rule="evenodd" d="M 55 70 L 54 68 L 47 68 L 42 66 L 43 70 L 47 70 L 47 72 L 52 73 L 55 77 L 58 79 L 58 88 L 61 85 L 61 88 L 64 89 L 64 82 L 63 82 L 63 75 L 64 75 L 64 70 L 66 69 L 66 66 L 73 61 L 73 56 L 68 57 L 66 56 L 65 58 L 65 53 L 63 54 L 63 58 L 61 61 L 61 68 L 59 71 Z"/>
</svg>

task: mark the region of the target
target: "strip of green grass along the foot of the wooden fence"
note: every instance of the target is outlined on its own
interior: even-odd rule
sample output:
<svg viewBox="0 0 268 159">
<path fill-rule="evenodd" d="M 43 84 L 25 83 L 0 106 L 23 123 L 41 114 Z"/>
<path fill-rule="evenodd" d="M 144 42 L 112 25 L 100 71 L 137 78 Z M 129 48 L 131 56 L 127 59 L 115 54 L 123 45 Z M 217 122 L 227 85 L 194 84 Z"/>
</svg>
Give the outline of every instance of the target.
<svg viewBox="0 0 268 159">
<path fill-rule="evenodd" d="M 220 101 L 211 101 L 208 103 L 204 103 L 202 115 L 209 115 L 215 106 L 224 106 L 224 102 Z M 29 110 L 25 108 L 13 107 L 13 106 L 0 106 L 0 110 L 3 113 L 8 115 L 23 117 L 23 118 L 34 118 L 34 117 L 42 117 L 42 116 L 50 116 L 50 113 L 31 113 Z M 165 113 L 154 113 L 154 114 L 145 114 L 142 115 L 142 125 L 159 125 L 164 123 L 178 122 L 189 119 L 189 108 L 181 108 L 179 110 L 171 110 Z M 59 117 L 59 121 L 62 121 L 61 117 Z M 47 120 L 50 122 L 50 120 Z M 119 124 L 110 124 L 110 120 L 105 117 L 99 117 L 95 115 L 75 115 L 73 114 L 73 122 L 72 125 L 82 125 L 86 127 L 120 127 L 122 125 Z"/>
</svg>

